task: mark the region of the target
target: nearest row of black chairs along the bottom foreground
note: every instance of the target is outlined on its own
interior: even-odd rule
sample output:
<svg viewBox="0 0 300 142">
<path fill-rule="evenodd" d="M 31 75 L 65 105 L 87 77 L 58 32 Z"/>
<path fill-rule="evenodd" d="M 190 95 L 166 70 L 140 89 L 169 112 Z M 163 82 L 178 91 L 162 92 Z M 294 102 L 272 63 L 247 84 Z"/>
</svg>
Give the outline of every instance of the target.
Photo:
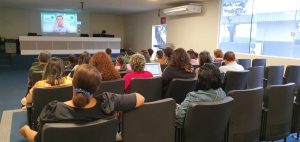
<svg viewBox="0 0 300 142">
<path fill-rule="evenodd" d="M 268 86 L 265 91 L 262 87 L 233 90 L 222 101 L 194 103 L 188 108 L 183 126 L 174 126 L 176 105 L 173 99 L 148 102 L 138 109 L 123 112 L 123 142 L 253 142 L 284 139 L 291 132 L 299 132 L 300 107 L 293 102 L 294 88 L 295 84 L 289 83 Z M 42 138 L 44 142 L 58 141 L 57 138 L 59 141 L 77 142 L 83 140 L 79 138 L 82 134 L 88 133 L 93 135 L 93 139 L 88 140 L 90 142 L 113 142 L 116 129 L 115 119 L 82 125 L 45 124 Z"/>
</svg>

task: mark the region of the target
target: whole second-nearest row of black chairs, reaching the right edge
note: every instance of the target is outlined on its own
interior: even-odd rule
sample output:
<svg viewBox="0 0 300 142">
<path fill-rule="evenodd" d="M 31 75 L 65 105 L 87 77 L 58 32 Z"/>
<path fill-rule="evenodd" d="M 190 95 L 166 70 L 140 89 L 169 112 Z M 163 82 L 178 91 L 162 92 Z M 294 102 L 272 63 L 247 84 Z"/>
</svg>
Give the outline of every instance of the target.
<svg viewBox="0 0 300 142">
<path fill-rule="evenodd" d="M 266 87 L 267 85 L 281 85 L 289 82 L 294 82 L 296 87 L 300 85 L 300 66 L 287 66 L 285 75 L 283 75 L 283 71 L 283 66 L 268 66 L 266 71 L 264 71 L 264 67 L 257 66 L 250 67 L 245 71 L 227 72 L 223 79 L 223 89 L 225 92 L 229 92 L 230 90 Z M 35 74 L 40 75 L 39 77 L 41 77 L 40 72 L 34 72 L 33 78 L 35 78 Z M 151 87 L 148 84 L 151 84 Z M 195 90 L 195 84 L 196 80 L 194 79 L 174 79 L 171 82 L 170 89 L 167 90 L 165 97 L 174 98 L 177 103 L 181 103 L 185 98 L 185 95 L 181 94 L 187 94 L 188 92 Z M 143 94 L 147 102 L 161 99 L 161 90 L 162 79 L 160 77 L 147 79 L 136 78 L 131 81 L 130 92 Z M 99 93 L 104 91 L 123 94 L 123 79 L 104 81 Z"/>
</svg>

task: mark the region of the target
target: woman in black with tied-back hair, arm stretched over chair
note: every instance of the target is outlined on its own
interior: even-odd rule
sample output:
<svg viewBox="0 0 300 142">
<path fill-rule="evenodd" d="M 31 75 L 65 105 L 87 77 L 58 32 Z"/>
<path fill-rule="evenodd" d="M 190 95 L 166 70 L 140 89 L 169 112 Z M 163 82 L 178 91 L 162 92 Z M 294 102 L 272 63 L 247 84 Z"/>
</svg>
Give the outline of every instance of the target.
<svg viewBox="0 0 300 142">
<path fill-rule="evenodd" d="M 72 100 L 52 101 L 46 105 L 39 116 L 41 126 L 38 132 L 28 125 L 20 133 L 30 142 L 41 142 L 42 126 L 45 123 L 89 122 L 113 116 L 114 111 L 129 110 L 144 104 L 144 97 L 133 93 L 119 95 L 102 93 L 93 96 L 101 84 L 101 74 L 91 65 L 81 65 L 74 73 L 74 93 Z M 101 134 L 100 134 L 101 135 Z"/>
</svg>

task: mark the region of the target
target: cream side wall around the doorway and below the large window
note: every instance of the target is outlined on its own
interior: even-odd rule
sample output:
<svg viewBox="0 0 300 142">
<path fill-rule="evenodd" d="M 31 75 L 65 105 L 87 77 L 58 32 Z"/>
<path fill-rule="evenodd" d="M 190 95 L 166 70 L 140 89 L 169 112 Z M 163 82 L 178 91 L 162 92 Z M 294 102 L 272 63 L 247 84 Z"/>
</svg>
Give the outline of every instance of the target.
<svg viewBox="0 0 300 142">
<path fill-rule="evenodd" d="M 201 15 L 168 17 L 167 42 L 176 47 L 194 49 L 197 52 L 212 51 L 218 48 L 219 0 L 210 0 L 202 3 L 204 13 Z M 139 21 L 139 23 L 137 22 Z M 137 51 L 151 46 L 151 26 L 159 24 L 157 11 L 133 14 L 125 17 L 125 47 Z M 280 58 L 271 56 L 257 56 L 237 54 L 237 58 L 266 58 L 267 65 L 300 64 L 300 59 Z"/>
</svg>

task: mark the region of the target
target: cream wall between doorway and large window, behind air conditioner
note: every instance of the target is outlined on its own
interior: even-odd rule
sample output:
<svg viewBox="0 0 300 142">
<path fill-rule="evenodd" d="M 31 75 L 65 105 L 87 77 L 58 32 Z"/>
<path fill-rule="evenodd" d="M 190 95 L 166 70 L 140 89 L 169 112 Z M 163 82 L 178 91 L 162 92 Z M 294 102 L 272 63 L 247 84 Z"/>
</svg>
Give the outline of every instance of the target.
<svg viewBox="0 0 300 142">
<path fill-rule="evenodd" d="M 167 41 L 176 47 L 213 51 L 217 48 L 219 0 L 203 2 L 200 15 L 168 17 Z"/>
</svg>

